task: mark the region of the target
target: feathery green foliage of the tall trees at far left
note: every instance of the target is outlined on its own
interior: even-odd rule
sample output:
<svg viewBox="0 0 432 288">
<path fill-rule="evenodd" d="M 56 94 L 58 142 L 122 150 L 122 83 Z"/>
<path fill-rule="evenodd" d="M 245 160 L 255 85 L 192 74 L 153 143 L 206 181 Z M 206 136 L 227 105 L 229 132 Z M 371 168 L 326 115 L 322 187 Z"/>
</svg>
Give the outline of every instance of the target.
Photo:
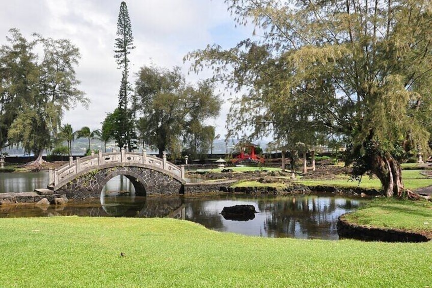
<svg viewBox="0 0 432 288">
<path fill-rule="evenodd" d="M 17 29 L 9 32 L 9 45 L 0 48 L 0 146 L 7 139 L 41 156 L 57 138 L 64 110 L 88 102 L 75 78 L 79 51 L 69 40 L 34 34 L 28 41 Z"/>
</svg>

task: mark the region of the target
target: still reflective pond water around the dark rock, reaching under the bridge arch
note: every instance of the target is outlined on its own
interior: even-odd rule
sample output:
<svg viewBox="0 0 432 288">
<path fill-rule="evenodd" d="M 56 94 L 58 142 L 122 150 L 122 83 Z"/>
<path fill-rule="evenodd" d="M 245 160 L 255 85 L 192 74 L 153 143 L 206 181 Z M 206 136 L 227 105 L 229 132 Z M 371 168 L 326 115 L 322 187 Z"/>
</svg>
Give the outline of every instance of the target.
<svg viewBox="0 0 432 288">
<path fill-rule="evenodd" d="M 120 193 L 127 191 L 128 193 Z M 59 207 L 0 206 L 0 217 L 172 217 L 194 221 L 213 230 L 260 237 L 337 240 L 337 219 L 356 210 L 366 199 L 326 194 L 212 197 L 139 197 L 125 177 L 107 183 L 100 199 L 72 202 Z M 258 212 L 253 219 L 227 220 L 225 206 L 249 204 Z"/>
</svg>

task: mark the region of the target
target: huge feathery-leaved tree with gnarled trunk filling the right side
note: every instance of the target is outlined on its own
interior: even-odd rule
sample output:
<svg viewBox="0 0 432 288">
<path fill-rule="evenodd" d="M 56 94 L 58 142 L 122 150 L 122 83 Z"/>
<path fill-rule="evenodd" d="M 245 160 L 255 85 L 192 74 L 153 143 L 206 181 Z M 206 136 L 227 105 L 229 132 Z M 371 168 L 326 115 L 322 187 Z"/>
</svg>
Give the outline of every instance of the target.
<svg viewBox="0 0 432 288">
<path fill-rule="evenodd" d="M 196 70 L 213 67 L 216 80 L 239 92 L 229 124 L 250 124 L 257 134 L 275 123 L 266 115 L 295 115 L 294 103 L 305 103 L 311 129 L 349 143 L 355 175 L 372 172 L 389 197 L 415 196 L 404 188 L 396 155 L 407 140 L 428 152 L 430 2 L 225 2 L 239 24 L 255 24 L 259 39 L 209 45 L 186 58 Z"/>
</svg>

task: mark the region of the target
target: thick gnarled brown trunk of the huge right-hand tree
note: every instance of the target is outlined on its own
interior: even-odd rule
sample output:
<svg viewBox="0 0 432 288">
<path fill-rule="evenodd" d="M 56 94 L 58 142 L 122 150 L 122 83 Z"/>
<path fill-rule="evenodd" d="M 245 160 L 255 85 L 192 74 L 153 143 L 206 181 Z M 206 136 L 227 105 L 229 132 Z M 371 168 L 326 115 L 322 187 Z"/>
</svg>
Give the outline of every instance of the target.
<svg viewBox="0 0 432 288">
<path fill-rule="evenodd" d="M 419 199 L 420 196 L 403 186 L 400 164 L 390 153 L 372 156 L 372 173 L 381 181 L 386 197 L 403 197 Z"/>
</svg>

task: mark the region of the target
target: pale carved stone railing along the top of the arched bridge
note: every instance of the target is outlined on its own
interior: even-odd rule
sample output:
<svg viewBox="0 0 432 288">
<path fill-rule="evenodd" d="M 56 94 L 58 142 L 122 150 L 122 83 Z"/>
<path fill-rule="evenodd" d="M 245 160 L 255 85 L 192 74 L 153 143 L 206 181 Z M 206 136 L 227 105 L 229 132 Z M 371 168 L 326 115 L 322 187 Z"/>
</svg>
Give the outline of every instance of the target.
<svg viewBox="0 0 432 288">
<path fill-rule="evenodd" d="M 106 164 L 143 164 L 158 169 L 166 170 L 167 172 L 184 179 L 184 168 L 178 167 L 167 161 L 167 155 L 164 152 L 162 159 L 155 156 L 147 155 L 144 150 L 142 153 L 126 152 L 121 149 L 120 152 L 109 152 L 92 154 L 82 159 L 79 157 L 76 160 L 70 158 L 69 164 L 66 164 L 54 171 L 49 171 L 48 181 L 49 184 L 54 186 L 61 182 L 72 179 L 76 174 L 81 171 L 97 168 Z"/>
</svg>

